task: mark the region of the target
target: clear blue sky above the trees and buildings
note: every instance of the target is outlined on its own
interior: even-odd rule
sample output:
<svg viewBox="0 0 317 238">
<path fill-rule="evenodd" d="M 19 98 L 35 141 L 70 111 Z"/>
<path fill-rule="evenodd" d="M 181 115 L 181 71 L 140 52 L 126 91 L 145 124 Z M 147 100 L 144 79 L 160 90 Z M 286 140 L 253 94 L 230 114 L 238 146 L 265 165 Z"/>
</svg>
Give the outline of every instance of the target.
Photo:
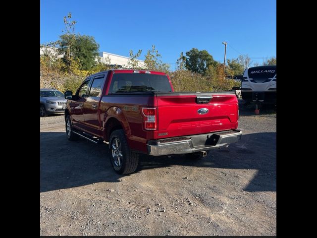
<svg viewBox="0 0 317 238">
<path fill-rule="evenodd" d="M 68 12 L 100 51 L 128 57 L 141 49 L 144 60 L 155 45 L 171 69 L 192 48 L 223 62 L 223 41 L 227 59 L 276 57 L 276 0 L 41 0 L 41 44 L 58 39 Z"/>
</svg>

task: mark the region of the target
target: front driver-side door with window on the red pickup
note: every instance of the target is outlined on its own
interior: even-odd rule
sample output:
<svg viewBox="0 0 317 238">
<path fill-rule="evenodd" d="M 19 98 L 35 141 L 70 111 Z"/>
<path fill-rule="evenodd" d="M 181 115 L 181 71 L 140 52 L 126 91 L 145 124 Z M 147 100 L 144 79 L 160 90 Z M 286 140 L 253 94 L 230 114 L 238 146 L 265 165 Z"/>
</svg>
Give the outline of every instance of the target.
<svg viewBox="0 0 317 238">
<path fill-rule="evenodd" d="M 75 127 L 84 129 L 84 103 L 88 97 L 88 86 L 90 83 L 91 78 L 87 78 L 82 85 L 79 87 L 75 94 L 76 100 L 72 100 L 69 104 L 71 110 L 71 120 L 72 124 Z"/>
</svg>

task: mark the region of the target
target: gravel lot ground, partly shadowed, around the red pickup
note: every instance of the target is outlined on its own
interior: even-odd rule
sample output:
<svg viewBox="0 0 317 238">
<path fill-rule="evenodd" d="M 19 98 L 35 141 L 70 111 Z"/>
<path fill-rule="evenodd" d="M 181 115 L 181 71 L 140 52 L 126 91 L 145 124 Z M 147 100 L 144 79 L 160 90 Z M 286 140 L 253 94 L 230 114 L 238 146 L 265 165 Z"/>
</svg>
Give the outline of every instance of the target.
<svg viewBox="0 0 317 238">
<path fill-rule="evenodd" d="M 276 113 L 253 111 L 240 106 L 240 142 L 200 161 L 141 156 L 128 176 L 105 144 L 41 118 L 41 236 L 275 236 Z"/>
</svg>

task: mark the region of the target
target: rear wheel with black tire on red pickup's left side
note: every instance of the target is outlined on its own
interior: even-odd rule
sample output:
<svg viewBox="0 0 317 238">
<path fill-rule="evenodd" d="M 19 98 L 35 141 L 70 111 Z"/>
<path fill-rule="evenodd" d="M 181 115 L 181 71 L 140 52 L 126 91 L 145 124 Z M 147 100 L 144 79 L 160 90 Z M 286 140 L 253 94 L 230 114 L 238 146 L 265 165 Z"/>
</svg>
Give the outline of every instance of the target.
<svg viewBox="0 0 317 238">
<path fill-rule="evenodd" d="M 122 129 L 112 131 L 109 139 L 110 162 L 119 175 L 133 173 L 139 164 L 139 154 L 129 149 Z"/>
</svg>

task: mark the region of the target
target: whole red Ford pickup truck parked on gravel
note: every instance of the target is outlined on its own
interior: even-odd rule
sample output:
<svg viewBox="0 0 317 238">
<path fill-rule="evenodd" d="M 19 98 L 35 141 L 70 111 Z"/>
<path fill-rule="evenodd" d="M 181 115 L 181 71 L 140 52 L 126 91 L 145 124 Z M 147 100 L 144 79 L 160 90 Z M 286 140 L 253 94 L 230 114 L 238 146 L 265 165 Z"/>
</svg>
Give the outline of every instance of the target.
<svg viewBox="0 0 317 238">
<path fill-rule="evenodd" d="M 174 92 L 163 72 L 103 71 L 64 95 L 67 138 L 108 142 L 118 174 L 133 173 L 140 153 L 198 159 L 242 134 L 234 93 Z"/>
</svg>

